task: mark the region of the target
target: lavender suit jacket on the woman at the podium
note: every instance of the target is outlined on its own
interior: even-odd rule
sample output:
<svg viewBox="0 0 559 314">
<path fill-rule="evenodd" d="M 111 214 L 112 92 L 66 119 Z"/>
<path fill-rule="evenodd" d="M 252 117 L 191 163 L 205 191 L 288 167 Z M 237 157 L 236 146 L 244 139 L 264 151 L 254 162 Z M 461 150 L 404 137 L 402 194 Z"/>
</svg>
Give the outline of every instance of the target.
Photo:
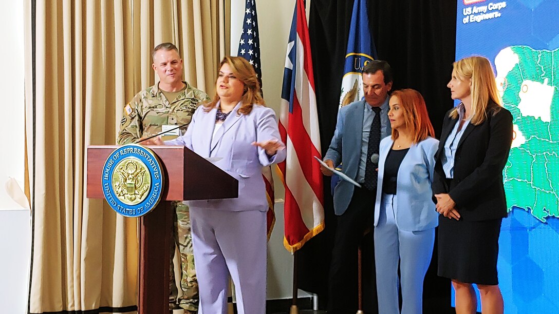
<svg viewBox="0 0 559 314">
<path fill-rule="evenodd" d="M 190 201 L 189 206 L 228 211 L 267 211 L 266 186 L 262 167 L 279 163 L 286 150 L 278 150 L 268 158 L 266 151 L 251 143 L 281 140 L 276 114 L 270 108 L 253 104 L 249 115 L 238 113 L 240 103 L 231 111 L 212 139 L 217 108 L 209 112 L 198 107 L 186 133 L 165 145 L 184 145 L 204 158 L 221 158 L 216 166 L 239 180 L 239 197 L 211 201 Z"/>
</svg>

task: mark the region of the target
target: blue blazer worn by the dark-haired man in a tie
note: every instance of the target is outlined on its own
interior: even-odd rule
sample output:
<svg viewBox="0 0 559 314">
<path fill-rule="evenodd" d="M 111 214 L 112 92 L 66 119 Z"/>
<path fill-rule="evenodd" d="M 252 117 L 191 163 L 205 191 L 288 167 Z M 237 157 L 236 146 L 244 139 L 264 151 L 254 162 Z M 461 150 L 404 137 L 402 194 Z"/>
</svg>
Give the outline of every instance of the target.
<svg viewBox="0 0 559 314">
<path fill-rule="evenodd" d="M 330 159 L 334 161 L 334 165 L 342 163 L 343 172 L 354 180 L 357 178 L 361 160 L 364 110 L 364 100 L 350 103 L 339 110 L 336 130 L 328 151 L 324 155 L 324 160 Z M 390 124 L 386 128 L 385 131 L 390 133 Z M 336 215 L 342 215 L 347 210 L 353 196 L 354 186 L 345 180 L 339 180 L 334 188 L 334 213 Z"/>
</svg>

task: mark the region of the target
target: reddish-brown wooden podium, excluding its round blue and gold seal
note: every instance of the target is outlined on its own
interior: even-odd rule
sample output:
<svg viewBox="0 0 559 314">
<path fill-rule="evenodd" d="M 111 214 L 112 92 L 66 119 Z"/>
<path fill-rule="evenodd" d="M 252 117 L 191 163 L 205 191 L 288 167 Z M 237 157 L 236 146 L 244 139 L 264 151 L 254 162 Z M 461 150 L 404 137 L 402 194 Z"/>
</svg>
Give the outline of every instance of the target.
<svg viewBox="0 0 559 314">
<path fill-rule="evenodd" d="M 88 146 L 87 197 L 105 198 L 103 165 L 120 146 Z M 148 146 L 165 174 L 158 206 L 140 217 L 140 274 L 138 313 L 169 312 L 169 247 L 173 234 L 171 201 L 236 198 L 239 182 L 214 164 L 183 146 Z"/>
</svg>

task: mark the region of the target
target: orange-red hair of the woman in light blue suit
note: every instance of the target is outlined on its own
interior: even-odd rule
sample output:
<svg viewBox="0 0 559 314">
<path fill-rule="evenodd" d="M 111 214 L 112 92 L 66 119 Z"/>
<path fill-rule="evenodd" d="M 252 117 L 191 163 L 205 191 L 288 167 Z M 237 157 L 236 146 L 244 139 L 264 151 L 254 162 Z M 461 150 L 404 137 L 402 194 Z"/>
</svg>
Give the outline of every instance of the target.
<svg viewBox="0 0 559 314">
<path fill-rule="evenodd" d="M 404 122 L 411 131 L 412 142 L 417 144 L 428 136 L 434 137 L 435 131 L 429 120 L 427 106 L 423 96 L 415 89 L 400 89 L 392 93 L 390 98 L 397 97 L 400 109 L 404 111 Z M 392 129 L 392 140 L 399 136 L 398 130 Z"/>
</svg>

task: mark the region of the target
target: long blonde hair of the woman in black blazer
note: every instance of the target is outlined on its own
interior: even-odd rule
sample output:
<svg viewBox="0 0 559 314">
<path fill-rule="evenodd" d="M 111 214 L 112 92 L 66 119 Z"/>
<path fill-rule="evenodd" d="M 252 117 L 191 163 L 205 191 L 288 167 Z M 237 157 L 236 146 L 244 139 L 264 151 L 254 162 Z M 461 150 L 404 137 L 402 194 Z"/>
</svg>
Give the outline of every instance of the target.
<svg viewBox="0 0 559 314">
<path fill-rule="evenodd" d="M 495 83 L 495 74 L 487 58 L 471 56 L 458 60 L 452 65 L 458 79 L 462 81 L 471 79 L 472 115 L 470 123 L 480 125 L 487 118 L 488 111 L 495 115 L 501 110 L 503 105 Z M 454 108 L 449 116 L 458 118 L 458 107 Z"/>
</svg>

